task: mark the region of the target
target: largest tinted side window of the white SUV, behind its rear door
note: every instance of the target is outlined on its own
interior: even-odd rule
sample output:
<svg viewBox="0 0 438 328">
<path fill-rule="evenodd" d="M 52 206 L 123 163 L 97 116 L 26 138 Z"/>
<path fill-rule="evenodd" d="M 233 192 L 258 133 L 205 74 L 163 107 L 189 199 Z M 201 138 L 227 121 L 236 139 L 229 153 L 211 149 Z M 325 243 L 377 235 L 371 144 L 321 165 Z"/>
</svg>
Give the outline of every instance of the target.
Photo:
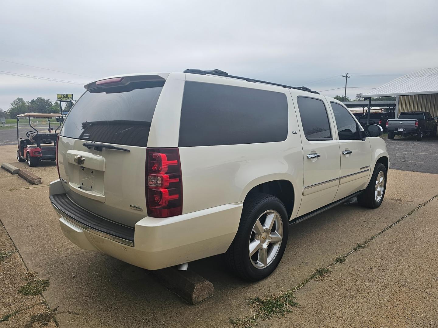
<svg viewBox="0 0 438 328">
<path fill-rule="evenodd" d="M 187 81 L 179 147 L 283 141 L 287 118 L 283 93 Z"/>
</svg>

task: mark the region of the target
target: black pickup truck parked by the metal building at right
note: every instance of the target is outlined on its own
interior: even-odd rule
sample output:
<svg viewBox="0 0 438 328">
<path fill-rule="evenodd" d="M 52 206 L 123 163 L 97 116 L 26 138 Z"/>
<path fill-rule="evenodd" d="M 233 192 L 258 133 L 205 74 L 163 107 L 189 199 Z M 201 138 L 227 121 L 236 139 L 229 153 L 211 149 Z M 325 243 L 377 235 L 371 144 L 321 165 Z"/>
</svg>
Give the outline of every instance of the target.
<svg viewBox="0 0 438 328">
<path fill-rule="evenodd" d="M 423 139 L 424 134 L 437 135 L 438 116 L 432 117 L 429 112 L 402 112 L 398 119 L 386 121 L 388 139 L 394 136 L 415 136 L 417 140 Z"/>
</svg>

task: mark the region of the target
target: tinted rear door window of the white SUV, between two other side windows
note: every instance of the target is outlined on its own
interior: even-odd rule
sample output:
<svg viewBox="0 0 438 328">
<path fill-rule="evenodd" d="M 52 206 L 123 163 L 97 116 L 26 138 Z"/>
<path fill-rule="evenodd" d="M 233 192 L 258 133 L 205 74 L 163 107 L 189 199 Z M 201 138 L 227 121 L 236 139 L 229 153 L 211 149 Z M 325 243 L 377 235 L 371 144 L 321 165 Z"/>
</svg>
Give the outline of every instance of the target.
<svg viewBox="0 0 438 328">
<path fill-rule="evenodd" d="M 298 97 L 298 110 L 307 140 L 332 140 L 324 103 L 315 98 Z"/>
</svg>

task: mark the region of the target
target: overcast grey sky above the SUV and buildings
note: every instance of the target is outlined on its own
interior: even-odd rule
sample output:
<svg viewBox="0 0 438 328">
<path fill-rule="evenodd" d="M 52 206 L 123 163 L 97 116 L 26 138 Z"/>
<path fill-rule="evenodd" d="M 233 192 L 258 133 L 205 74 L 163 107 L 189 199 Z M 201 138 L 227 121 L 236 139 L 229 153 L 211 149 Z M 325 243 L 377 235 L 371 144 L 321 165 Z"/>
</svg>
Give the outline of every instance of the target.
<svg viewBox="0 0 438 328">
<path fill-rule="evenodd" d="M 341 88 L 328 96 L 343 95 L 350 73 L 348 85 L 362 88 L 347 89 L 354 98 L 438 66 L 437 12 L 437 0 L 1 1 L 0 73 L 78 84 L 0 74 L 0 108 L 17 97 L 77 99 L 94 78 L 186 68 Z"/>
</svg>

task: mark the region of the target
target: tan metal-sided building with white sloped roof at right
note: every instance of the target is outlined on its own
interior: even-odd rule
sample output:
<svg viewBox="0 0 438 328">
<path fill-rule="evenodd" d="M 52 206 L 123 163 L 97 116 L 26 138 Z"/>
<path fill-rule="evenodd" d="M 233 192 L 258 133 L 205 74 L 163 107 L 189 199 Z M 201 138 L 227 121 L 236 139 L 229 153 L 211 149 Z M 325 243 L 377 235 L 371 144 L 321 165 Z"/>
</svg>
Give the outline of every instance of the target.
<svg viewBox="0 0 438 328">
<path fill-rule="evenodd" d="M 401 112 L 429 112 L 438 116 L 438 67 L 423 68 L 363 94 L 365 100 L 396 96 L 396 117 Z"/>
</svg>

